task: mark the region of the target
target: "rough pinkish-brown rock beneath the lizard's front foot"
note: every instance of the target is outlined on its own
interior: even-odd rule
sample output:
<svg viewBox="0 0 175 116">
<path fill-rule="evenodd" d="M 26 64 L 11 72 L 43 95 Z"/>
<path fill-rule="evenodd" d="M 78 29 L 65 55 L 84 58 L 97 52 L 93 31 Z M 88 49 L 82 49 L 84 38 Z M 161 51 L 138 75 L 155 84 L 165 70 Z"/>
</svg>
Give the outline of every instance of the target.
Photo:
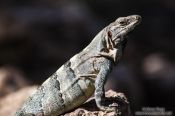
<svg viewBox="0 0 175 116">
<path fill-rule="evenodd" d="M 62 116 L 132 116 L 129 102 L 123 93 L 116 93 L 113 90 L 108 90 L 106 93 L 107 103 L 115 103 L 115 111 L 105 112 L 100 111 L 94 97 L 91 97 L 85 104 L 81 105 L 74 111 L 66 113 Z"/>
</svg>

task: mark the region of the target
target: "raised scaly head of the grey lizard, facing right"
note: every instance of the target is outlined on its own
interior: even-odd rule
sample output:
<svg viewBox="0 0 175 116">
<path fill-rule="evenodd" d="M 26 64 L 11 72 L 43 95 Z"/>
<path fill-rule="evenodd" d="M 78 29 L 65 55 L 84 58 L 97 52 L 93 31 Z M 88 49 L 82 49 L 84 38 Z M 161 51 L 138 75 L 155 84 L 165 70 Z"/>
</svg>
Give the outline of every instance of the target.
<svg viewBox="0 0 175 116">
<path fill-rule="evenodd" d="M 107 27 L 107 36 L 116 45 L 124 41 L 126 35 L 134 29 L 141 21 L 139 15 L 120 17 Z"/>
</svg>

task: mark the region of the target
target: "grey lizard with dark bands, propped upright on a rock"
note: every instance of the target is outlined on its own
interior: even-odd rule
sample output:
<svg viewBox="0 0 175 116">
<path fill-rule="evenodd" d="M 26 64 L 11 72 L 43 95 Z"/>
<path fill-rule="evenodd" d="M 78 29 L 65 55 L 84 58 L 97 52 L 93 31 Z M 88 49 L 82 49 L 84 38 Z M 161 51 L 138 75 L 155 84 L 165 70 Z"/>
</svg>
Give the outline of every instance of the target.
<svg viewBox="0 0 175 116">
<path fill-rule="evenodd" d="M 104 85 L 121 59 L 126 36 L 140 21 L 139 15 L 130 15 L 106 26 L 87 47 L 51 75 L 16 116 L 58 116 L 80 106 L 93 94 L 100 110 L 113 110 L 112 105 L 105 105 Z"/>
</svg>

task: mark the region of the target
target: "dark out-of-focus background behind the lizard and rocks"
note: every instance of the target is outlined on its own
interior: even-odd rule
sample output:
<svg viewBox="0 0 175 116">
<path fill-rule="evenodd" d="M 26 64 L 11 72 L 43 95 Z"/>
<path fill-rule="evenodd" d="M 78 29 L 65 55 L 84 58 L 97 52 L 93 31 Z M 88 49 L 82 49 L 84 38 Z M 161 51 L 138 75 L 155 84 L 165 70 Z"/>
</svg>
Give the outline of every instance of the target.
<svg viewBox="0 0 175 116">
<path fill-rule="evenodd" d="M 174 0 L 1 0 L 0 102 L 41 84 L 102 28 L 132 14 L 142 23 L 106 89 L 125 93 L 133 113 L 143 107 L 175 111 Z"/>
</svg>

